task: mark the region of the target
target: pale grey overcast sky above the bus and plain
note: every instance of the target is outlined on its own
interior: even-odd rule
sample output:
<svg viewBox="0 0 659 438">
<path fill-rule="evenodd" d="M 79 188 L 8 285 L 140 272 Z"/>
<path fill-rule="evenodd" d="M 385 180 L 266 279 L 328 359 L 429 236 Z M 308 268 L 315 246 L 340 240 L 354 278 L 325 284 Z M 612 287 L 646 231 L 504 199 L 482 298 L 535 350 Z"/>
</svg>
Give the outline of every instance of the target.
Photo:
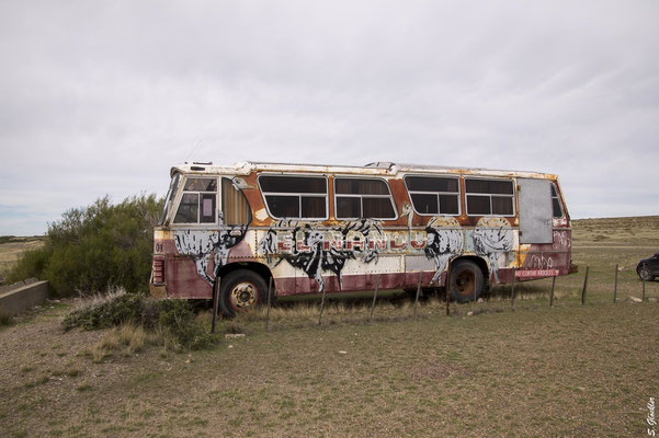
<svg viewBox="0 0 659 438">
<path fill-rule="evenodd" d="M 183 161 L 557 173 L 659 214 L 659 1 L 1 1 L 0 234 Z"/>
</svg>

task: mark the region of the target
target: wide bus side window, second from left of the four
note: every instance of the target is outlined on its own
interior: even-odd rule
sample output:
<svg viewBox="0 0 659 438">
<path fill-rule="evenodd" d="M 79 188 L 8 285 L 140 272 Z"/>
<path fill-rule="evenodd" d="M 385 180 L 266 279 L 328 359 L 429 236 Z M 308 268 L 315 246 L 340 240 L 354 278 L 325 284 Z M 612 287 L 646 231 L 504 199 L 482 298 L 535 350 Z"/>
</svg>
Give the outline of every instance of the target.
<svg viewBox="0 0 659 438">
<path fill-rule="evenodd" d="M 389 186 L 378 178 L 334 178 L 337 219 L 396 219 Z"/>
</svg>

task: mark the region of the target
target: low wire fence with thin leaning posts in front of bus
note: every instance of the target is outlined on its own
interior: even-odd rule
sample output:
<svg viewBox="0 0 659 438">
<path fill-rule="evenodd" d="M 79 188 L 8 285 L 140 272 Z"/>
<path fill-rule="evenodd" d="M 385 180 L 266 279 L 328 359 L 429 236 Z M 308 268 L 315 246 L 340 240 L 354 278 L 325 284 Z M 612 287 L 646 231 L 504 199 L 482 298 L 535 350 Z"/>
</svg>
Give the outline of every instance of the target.
<svg viewBox="0 0 659 438">
<path fill-rule="evenodd" d="M 513 278 L 515 276 L 513 275 Z M 615 266 L 611 272 L 601 267 L 569 276 L 549 277 L 533 281 L 513 280 L 508 285 L 495 285 L 477 299 L 457 303 L 451 293 L 421 286 L 421 275 L 413 293 L 382 291 L 380 278 L 376 277 L 373 291 L 362 292 L 357 298 L 344 298 L 341 293 L 320 300 L 294 301 L 288 306 L 274 306 L 272 281 L 268 288 L 266 306 L 253 312 L 240 314 L 242 321 L 262 321 L 266 331 L 272 322 L 306 321 L 303 325 L 325 325 L 339 322 L 371 323 L 401 319 L 421 319 L 430 315 L 471 316 L 487 312 L 514 311 L 524 308 L 554 308 L 652 303 L 659 301 L 659 281 L 644 281 L 635 273 Z M 476 298 L 476 296 L 474 297 Z M 294 324 L 295 325 L 295 324 Z"/>
</svg>

